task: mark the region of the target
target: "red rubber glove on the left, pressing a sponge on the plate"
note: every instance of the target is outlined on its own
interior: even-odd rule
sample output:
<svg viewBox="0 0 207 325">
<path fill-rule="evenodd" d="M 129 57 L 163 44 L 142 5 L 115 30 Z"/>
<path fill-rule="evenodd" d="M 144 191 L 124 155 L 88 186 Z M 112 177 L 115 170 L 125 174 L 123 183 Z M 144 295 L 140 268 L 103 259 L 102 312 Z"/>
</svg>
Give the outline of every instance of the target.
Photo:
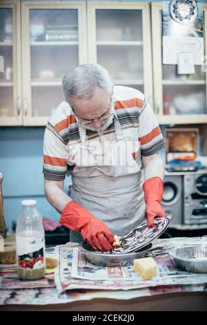
<svg viewBox="0 0 207 325">
<path fill-rule="evenodd" d="M 71 230 L 81 232 L 83 239 L 95 250 L 112 250 L 115 241 L 106 225 L 75 201 L 66 204 L 59 222 Z"/>
</svg>

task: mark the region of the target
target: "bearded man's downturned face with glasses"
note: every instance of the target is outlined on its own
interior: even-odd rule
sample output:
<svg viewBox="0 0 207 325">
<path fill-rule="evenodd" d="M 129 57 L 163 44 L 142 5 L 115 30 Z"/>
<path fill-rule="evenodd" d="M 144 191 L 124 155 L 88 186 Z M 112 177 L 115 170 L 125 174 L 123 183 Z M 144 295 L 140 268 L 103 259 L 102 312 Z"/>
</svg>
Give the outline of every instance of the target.
<svg viewBox="0 0 207 325">
<path fill-rule="evenodd" d="M 97 87 L 92 97 L 72 97 L 72 108 L 85 129 L 102 131 L 112 123 L 112 94 Z"/>
</svg>

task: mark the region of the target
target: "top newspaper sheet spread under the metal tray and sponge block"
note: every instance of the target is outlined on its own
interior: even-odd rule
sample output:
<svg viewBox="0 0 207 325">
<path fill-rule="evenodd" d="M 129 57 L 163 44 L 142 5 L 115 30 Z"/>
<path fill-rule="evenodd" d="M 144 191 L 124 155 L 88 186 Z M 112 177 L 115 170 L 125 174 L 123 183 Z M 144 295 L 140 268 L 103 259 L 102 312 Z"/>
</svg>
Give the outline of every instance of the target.
<svg viewBox="0 0 207 325">
<path fill-rule="evenodd" d="M 55 284 L 59 292 L 68 289 L 130 290 L 154 286 L 204 284 L 207 282 L 207 274 L 178 270 L 168 255 L 169 248 L 197 241 L 198 238 L 155 241 L 146 256 L 155 257 L 158 272 L 156 277 L 148 281 L 133 272 L 132 266 L 95 266 L 78 250 L 78 244 L 68 243 L 56 249 L 56 253 L 59 254 L 59 268 L 55 270 Z"/>
</svg>

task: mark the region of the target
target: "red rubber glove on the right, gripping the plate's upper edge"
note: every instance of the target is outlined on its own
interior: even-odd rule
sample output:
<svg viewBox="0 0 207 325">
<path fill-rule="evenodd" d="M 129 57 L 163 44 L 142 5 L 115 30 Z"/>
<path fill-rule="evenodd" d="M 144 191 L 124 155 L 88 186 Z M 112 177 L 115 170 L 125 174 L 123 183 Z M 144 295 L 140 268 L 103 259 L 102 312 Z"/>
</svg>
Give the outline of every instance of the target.
<svg viewBox="0 0 207 325">
<path fill-rule="evenodd" d="M 146 202 L 145 215 L 148 227 L 152 227 L 156 216 L 166 216 L 166 212 L 161 207 L 163 186 L 163 181 L 159 177 L 149 178 L 142 186 L 144 190 L 144 201 Z"/>
</svg>

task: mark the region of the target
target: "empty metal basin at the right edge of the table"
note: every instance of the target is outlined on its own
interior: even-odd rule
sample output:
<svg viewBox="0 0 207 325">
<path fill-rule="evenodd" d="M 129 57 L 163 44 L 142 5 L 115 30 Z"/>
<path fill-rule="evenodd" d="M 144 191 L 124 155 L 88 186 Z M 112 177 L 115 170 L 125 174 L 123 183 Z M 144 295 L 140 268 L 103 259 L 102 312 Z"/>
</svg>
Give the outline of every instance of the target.
<svg viewBox="0 0 207 325">
<path fill-rule="evenodd" d="M 172 248 L 170 257 L 181 270 L 193 273 L 207 273 L 207 245 L 186 245 Z"/>
</svg>

